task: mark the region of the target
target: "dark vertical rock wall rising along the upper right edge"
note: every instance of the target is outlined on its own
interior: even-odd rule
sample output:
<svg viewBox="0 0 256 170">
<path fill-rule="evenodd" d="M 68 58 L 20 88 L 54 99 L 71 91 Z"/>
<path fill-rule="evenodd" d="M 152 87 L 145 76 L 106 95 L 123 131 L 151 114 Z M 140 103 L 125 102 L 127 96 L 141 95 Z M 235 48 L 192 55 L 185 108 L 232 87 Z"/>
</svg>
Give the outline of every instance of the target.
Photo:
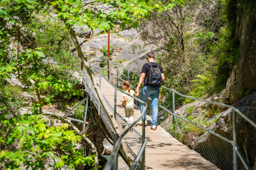
<svg viewBox="0 0 256 170">
<path fill-rule="evenodd" d="M 235 103 L 245 94 L 256 91 L 256 7 L 237 16 L 235 38 L 240 40 L 240 56 L 227 86 L 219 94 L 220 102 Z"/>
</svg>

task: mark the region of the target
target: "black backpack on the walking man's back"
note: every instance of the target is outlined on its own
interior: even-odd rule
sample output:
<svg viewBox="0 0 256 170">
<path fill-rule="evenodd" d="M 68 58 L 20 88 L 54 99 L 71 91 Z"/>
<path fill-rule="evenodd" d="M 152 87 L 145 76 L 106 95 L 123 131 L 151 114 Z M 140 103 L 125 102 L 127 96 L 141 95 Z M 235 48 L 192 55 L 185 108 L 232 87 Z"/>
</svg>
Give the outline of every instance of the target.
<svg viewBox="0 0 256 170">
<path fill-rule="evenodd" d="M 156 66 L 152 66 L 150 62 L 146 64 L 150 67 L 149 74 L 146 76 L 146 86 L 161 86 L 162 78 L 159 64 L 156 64 Z"/>
</svg>

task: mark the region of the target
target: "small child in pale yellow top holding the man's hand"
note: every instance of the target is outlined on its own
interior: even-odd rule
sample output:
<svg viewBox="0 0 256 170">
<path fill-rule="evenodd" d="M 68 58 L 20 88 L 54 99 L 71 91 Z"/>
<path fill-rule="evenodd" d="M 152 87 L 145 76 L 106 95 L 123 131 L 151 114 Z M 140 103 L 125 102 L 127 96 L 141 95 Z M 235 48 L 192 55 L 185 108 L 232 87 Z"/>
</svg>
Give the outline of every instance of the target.
<svg viewBox="0 0 256 170">
<path fill-rule="evenodd" d="M 131 84 L 129 81 L 124 81 L 122 83 L 122 88 L 125 92 L 127 92 L 127 94 L 135 97 L 139 96 L 139 92 L 135 94 L 135 91 L 131 90 Z M 134 98 L 128 96 L 127 94 L 123 94 L 124 101 L 122 102 L 122 107 L 124 108 L 125 112 L 125 120 L 127 120 L 127 123 L 132 123 L 134 118 Z"/>
</svg>

